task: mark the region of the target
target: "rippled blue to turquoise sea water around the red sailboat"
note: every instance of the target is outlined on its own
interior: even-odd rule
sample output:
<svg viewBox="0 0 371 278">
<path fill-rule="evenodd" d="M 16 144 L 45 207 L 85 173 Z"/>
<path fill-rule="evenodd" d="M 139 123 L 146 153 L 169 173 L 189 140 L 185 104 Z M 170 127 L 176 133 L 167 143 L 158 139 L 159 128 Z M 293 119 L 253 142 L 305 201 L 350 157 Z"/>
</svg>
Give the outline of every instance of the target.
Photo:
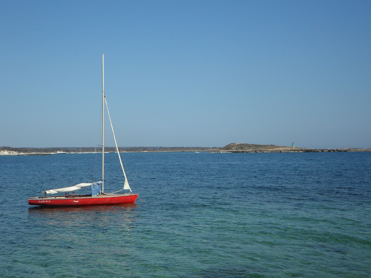
<svg viewBox="0 0 371 278">
<path fill-rule="evenodd" d="M 371 277 L 371 152 L 123 157 L 145 202 L 45 209 L 100 158 L 0 156 L 0 277 Z"/>
</svg>

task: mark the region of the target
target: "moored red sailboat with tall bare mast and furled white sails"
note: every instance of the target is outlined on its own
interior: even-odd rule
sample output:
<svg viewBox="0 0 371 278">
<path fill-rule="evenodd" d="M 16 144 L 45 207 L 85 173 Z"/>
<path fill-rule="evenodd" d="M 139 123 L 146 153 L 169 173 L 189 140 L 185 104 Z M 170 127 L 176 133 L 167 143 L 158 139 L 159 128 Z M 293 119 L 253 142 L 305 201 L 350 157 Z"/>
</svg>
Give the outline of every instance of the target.
<svg viewBox="0 0 371 278">
<path fill-rule="evenodd" d="M 123 189 L 113 192 L 104 193 L 104 113 L 107 107 L 107 113 L 109 122 L 111 123 L 112 134 L 114 136 L 116 151 L 118 154 L 119 162 L 121 165 L 122 173 L 124 175 L 124 187 Z M 76 190 L 85 187 L 91 187 L 91 194 L 75 194 Z M 130 193 L 117 193 L 122 190 L 129 190 Z M 92 183 L 79 183 L 78 185 L 73 185 L 64 188 L 50 189 L 43 191 L 44 196 L 42 197 L 30 197 L 28 199 L 29 205 L 36 206 L 87 206 L 87 205 L 116 205 L 123 203 L 134 203 L 138 197 L 138 194 L 132 193 L 131 188 L 126 178 L 124 171 L 124 166 L 122 166 L 122 161 L 120 153 L 118 151 L 115 133 L 112 127 L 111 117 L 109 116 L 107 101 L 104 93 L 104 56 L 102 54 L 102 181 L 92 182 Z M 47 196 L 47 194 L 55 193 L 65 193 L 62 196 Z"/>
</svg>

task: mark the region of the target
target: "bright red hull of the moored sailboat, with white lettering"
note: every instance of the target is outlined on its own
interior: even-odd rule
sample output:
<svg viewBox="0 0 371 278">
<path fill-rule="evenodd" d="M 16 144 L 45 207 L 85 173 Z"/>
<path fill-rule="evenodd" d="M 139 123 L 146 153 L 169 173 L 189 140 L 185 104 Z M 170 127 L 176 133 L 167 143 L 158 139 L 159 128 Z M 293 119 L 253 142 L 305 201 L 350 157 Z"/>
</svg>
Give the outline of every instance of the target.
<svg viewBox="0 0 371 278">
<path fill-rule="evenodd" d="M 100 196 L 76 196 L 76 197 L 30 197 L 29 205 L 34 206 L 96 206 L 117 205 L 122 203 L 134 203 L 138 194 L 107 194 Z"/>
</svg>

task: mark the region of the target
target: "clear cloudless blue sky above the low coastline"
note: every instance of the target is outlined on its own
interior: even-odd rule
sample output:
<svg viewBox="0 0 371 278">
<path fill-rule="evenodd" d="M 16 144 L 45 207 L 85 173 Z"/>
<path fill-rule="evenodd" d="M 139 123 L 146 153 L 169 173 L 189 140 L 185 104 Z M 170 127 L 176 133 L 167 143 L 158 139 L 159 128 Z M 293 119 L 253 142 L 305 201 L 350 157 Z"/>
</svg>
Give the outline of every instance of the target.
<svg viewBox="0 0 371 278">
<path fill-rule="evenodd" d="M 371 148 L 370 1 L 1 1 L 0 145 Z M 113 146 L 106 139 L 106 146 Z"/>
</svg>

